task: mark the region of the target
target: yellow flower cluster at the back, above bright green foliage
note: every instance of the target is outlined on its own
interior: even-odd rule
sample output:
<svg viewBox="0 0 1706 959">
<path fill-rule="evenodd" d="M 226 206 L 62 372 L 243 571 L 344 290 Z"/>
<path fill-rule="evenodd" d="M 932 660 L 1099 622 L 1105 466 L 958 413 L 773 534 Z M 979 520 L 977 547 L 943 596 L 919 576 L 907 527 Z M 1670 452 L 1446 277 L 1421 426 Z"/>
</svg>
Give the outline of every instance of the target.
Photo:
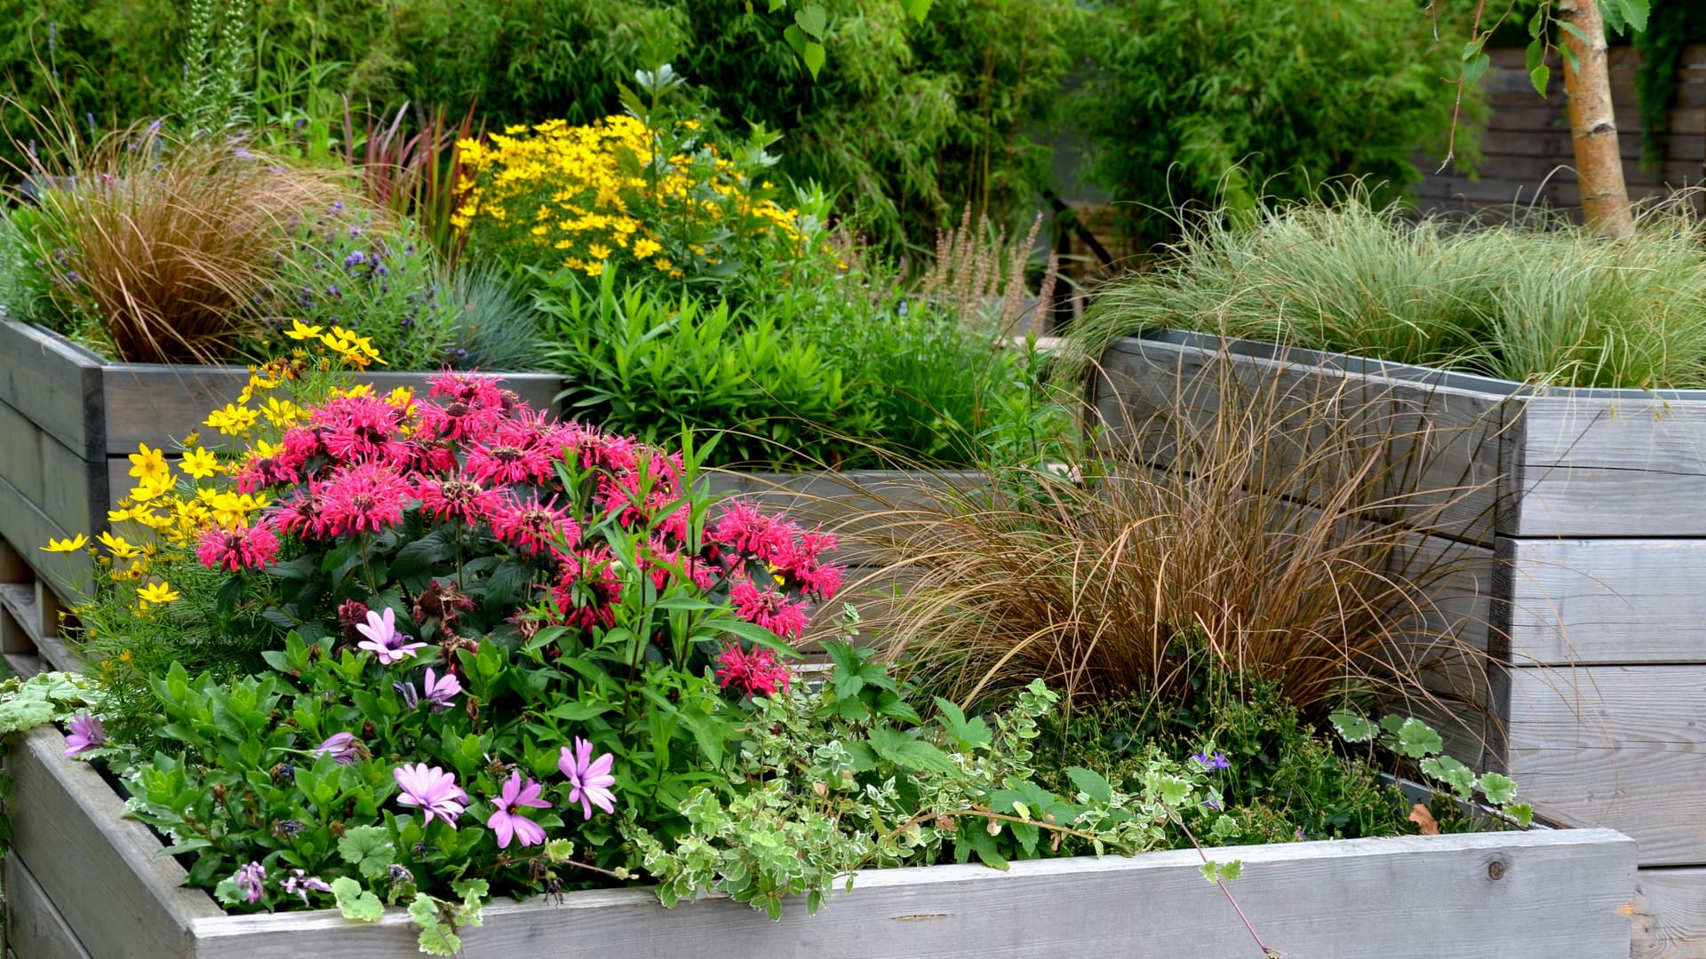
<svg viewBox="0 0 1706 959">
<path fill-rule="evenodd" d="M 693 131 L 698 123 L 681 128 Z M 457 147 L 467 176 L 457 184 L 452 224 L 549 251 L 546 261 L 587 276 L 626 259 L 682 278 L 728 251 L 780 242 L 797 254 L 807 242 L 798 210 L 757 196 L 747 174 L 715 147 L 653 166 L 660 138 L 631 116 L 508 126 L 490 145 Z"/>
</svg>

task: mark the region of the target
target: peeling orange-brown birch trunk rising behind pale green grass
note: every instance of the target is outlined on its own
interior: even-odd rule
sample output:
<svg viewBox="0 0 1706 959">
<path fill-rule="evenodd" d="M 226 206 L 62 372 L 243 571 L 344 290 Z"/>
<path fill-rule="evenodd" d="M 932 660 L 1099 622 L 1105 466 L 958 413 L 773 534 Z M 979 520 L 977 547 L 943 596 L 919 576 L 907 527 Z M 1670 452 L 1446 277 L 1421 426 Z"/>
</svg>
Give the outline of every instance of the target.
<svg viewBox="0 0 1706 959">
<path fill-rule="evenodd" d="M 1622 154 L 1617 150 L 1617 121 L 1610 109 L 1605 20 L 1595 0 L 1559 0 L 1558 19 L 1587 38 L 1558 31 L 1564 49 L 1576 60 L 1571 70 L 1570 56 L 1564 56 L 1564 96 L 1570 99 L 1570 142 L 1581 181 L 1581 213 L 1590 229 L 1609 237 L 1634 235 L 1629 191 L 1622 183 Z"/>
</svg>

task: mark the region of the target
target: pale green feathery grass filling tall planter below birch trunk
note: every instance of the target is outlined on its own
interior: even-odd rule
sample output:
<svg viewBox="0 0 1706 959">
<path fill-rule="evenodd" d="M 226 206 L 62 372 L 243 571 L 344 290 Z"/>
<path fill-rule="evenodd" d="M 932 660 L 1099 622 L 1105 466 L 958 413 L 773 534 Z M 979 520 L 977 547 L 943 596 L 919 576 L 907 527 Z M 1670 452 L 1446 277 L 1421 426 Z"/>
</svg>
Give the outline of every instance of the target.
<svg viewBox="0 0 1706 959">
<path fill-rule="evenodd" d="M 1697 200 L 1645 208 L 1626 242 L 1542 210 L 1413 218 L 1356 191 L 1206 217 L 1104 288 L 1073 352 L 1182 328 L 1547 386 L 1706 387 Z"/>
</svg>

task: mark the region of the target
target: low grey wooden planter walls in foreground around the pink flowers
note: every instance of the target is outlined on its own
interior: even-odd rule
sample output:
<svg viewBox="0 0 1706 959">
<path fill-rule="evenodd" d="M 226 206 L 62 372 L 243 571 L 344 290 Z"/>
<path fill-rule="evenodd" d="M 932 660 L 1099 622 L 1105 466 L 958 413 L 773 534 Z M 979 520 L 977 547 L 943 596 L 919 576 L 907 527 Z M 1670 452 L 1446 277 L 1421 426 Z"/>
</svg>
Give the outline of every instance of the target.
<svg viewBox="0 0 1706 959">
<path fill-rule="evenodd" d="M 19 959 L 418 956 L 401 910 L 227 916 L 63 737 L 14 737 L 5 863 Z M 1239 903 L 1285 956 L 1604 959 L 1629 942 L 1633 843 L 1609 829 L 1407 836 L 1216 850 L 1240 858 Z M 664 910 L 647 889 L 498 901 L 467 956 L 1252 956 L 1194 851 L 860 874 L 817 916 L 778 923 L 722 898 Z"/>
</svg>

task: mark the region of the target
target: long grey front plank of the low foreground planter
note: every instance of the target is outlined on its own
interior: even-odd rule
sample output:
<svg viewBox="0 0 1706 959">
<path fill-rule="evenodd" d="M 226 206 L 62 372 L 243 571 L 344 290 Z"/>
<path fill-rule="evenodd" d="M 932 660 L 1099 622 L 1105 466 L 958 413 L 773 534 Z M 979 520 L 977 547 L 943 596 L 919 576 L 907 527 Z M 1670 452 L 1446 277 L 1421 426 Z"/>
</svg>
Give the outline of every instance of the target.
<svg viewBox="0 0 1706 959">
<path fill-rule="evenodd" d="M 1285 843 L 1215 855 L 1244 862 L 1239 903 L 1264 942 L 1286 956 L 1479 959 L 1494 949 L 1512 959 L 1604 959 L 1629 949 L 1634 848 L 1604 829 Z M 643 889 L 575 892 L 561 904 L 495 903 L 462 942 L 469 956 L 607 959 L 1252 952 L 1198 863 L 1196 851 L 1181 850 L 1018 862 L 1007 872 L 865 872 L 817 916 L 790 903 L 776 923 L 722 898 L 662 910 Z M 1331 903 L 1332 921 L 1322 921 L 1322 903 Z M 194 920 L 193 930 L 196 959 L 415 954 L 415 930 L 399 910 L 372 927 L 321 911 Z"/>
</svg>

